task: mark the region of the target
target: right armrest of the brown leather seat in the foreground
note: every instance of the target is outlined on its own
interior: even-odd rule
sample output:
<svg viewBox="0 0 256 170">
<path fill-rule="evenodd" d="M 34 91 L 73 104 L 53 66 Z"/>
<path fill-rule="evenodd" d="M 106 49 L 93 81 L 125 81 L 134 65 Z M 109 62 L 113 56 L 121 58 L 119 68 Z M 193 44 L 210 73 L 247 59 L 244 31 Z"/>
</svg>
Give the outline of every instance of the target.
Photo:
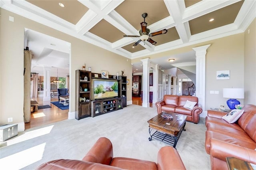
<svg viewBox="0 0 256 170">
<path fill-rule="evenodd" d="M 171 146 L 164 146 L 157 155 L 158 170 L 186 170 L 178 151 Z"/>
</svg>

